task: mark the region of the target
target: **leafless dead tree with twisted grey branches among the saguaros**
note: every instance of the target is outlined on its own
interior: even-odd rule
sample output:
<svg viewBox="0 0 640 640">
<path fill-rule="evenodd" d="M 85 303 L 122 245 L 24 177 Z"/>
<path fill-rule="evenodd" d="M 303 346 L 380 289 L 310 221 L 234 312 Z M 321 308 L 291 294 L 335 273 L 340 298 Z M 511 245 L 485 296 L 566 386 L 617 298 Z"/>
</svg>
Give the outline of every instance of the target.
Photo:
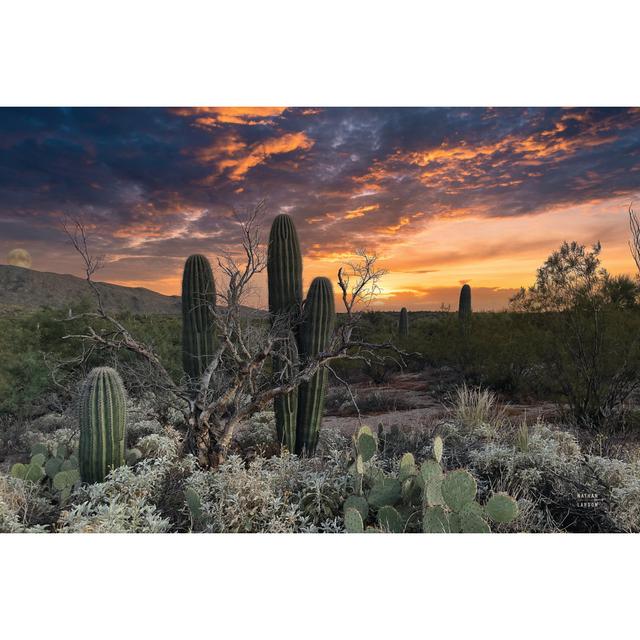
<svg viewBox="0 0 640 640">
<path fill-rule="evenodd" d="M 329 347 L 304 362 L 290 362 L 291 351 L 287 348 L 286 332 L 282 330 L 284 319 L 271 323 L 243 311 L 243 302 L 251 291 L 254 277 L 266 266 L 259 224 L 262 213 L 263 203 L 260 203 L 244 219 L 236 218 L 242 257 L 226 254 L 218 260 L 225 282 L 224 286 L 217 287 L 218 304 L 212 309 L 217 346 L 206 370 L 191 388 L 184 381 L 172 380 L 154 350 L 134 338 L 120 320 L 105 310 L 99 287 L 92 279 L 99 261 L 89 252 L 85 227 L 79 221 L 65 226 L 74 248 L 83 258 L 87 282 L 97 298 L 95 312 L 74 318 L 98 319 L 107 327 L 97 330 L 89 324 L 85 333 L 65 338 L 81 339 L 115 351 L 124 349 L 145 361 L 148 369 L 155 371 L 155 386 L 185 403 L 184 442 L 205 468 L 217 467 L 224 460 L 240 423 L 264 409 L 274 398 L 309 381 L 321 367 L 329 367 L 340 359 L 369 364 L 382 362 L 390 353 L 404 364 L 404 357 L 409 355 L 390 342 L 370 343 L 354 338 L 360 312 L 379 293 L 379 282 L 385 274 L 377 267 L 375 255 L 360 250 L 356 260 L 340 268 L 337 274 L 343 313 Z M 266 367 L 271 357 L 291 364 L 294 373 L 286 380 L 267 375 Z"/>
</svg>

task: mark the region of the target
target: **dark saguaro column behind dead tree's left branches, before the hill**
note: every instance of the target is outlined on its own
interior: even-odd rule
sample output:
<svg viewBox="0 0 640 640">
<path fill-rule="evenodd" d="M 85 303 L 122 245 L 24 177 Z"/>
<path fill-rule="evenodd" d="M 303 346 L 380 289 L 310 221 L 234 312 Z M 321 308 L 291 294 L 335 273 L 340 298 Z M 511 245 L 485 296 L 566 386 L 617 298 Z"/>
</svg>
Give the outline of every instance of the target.
<svg viewBox="0 0 640 640">
<path fill-rule="evenodd" d="M 182 365 L 192 383 L 204 373 L 215 349 L 215 304 L 209 260 L 200 254 L 189 256 L 182 274 Z"/>
</svg>

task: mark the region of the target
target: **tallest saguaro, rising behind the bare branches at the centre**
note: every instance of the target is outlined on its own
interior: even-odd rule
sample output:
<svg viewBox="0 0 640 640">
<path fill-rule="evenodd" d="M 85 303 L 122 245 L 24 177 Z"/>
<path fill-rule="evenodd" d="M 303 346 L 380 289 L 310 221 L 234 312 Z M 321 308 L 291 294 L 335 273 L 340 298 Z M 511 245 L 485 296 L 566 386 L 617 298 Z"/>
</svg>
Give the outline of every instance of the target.
<svg viewBox="0 0 640 640">
<path fill-rule="evenodd" d="M 286 214 L 276 216 L 271 225 L 267 279 L 271 322 L 282 333 L 283 347 L 289 353 L 289 360 L 295 362 L 295 323 L 302 306 L 302 254 L 293 220 Z M 281 382 L 286 382 L 294 373 L 295 366 L 292 367 L 277 357 L 273 358 L 272 364 L 274 376 Z M 275 398 L 273 404 L 278 440 L 290 451 L 294 451 L 298 412 L 297 390 Z"/>
</svg>

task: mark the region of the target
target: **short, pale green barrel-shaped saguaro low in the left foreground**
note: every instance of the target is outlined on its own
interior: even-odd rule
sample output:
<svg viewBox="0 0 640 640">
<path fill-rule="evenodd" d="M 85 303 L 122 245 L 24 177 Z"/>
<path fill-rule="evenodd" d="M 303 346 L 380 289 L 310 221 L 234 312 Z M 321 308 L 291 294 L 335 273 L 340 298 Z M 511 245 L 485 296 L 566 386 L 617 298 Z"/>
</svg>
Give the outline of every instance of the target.
<svg viewBox="0 0 640 640">
<path fill-rule="evenodd" d="M 97 367 L 80 393 L 80 476 L 102 482 L 111 469 L 125 463 L 127 396 L 118 373 Z"/>
</svg>

